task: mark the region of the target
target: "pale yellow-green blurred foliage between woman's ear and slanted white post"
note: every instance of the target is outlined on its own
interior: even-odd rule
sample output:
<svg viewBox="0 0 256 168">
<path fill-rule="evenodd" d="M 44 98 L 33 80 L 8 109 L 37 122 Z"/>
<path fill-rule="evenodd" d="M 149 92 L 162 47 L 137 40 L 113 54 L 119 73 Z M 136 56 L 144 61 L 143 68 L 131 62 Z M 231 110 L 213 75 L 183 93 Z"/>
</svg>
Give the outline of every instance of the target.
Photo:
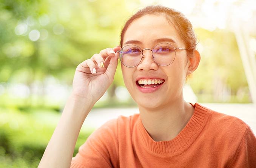
<svg viewBox="0 0 256 168">
<path fill-rule="evenodd" d="M 188 80 L 199 102 L 251 102 L 234 33 L 195 29 L 201 61 Z M 229 97 L 223 98 L 225 92 Z M 239 92 L 242 92 L 239 95 Z M 202 98 L 207 97 L 208 99 Z M 210 96 L 210 97 L 209 97 Z"/>
</svg>

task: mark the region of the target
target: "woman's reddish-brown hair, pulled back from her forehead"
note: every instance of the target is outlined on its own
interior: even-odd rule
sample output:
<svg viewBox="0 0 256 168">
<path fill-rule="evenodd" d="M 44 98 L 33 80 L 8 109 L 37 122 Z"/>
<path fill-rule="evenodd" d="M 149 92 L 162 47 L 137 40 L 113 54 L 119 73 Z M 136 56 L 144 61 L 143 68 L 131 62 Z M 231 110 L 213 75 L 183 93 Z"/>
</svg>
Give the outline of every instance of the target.
<svg viewBox="0 0 256 168">
<path fill-rule="evenodd" d="M 123 36 L 128 29 L 129 25 L 136 19 L 143 17 L 145 15 L 164 15 L 167 21 L 176 28 L 182 41 L 185 43 L 187 48 L 188 56 L 192 57 L 194 50 L 196 49 L 197 41 L 196 35 L 194 34 L 193 26 L 190 21 L 179 11 L 175 9 L 168 8 L 162 5 L 152 5 L 146 6 L 140 9 L 134 15 L 132 15 L 123 26 L 120 35 L 120 46 L 123 44 Z"/>
</svg>

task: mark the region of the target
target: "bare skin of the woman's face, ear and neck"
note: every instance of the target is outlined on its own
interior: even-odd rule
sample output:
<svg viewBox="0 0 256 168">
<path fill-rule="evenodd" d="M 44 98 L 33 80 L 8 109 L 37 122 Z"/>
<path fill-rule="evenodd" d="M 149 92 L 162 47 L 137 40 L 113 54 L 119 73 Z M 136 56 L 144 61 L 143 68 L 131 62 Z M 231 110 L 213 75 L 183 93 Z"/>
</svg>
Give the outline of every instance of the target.
<svg viewBox="0 0 256 168">
<path fill-rule="evenodd" d="M 185 48 L 179 33 L 163 15 L 145 15 L 134 20 L 125 32 L 123 43 L 136 40 L 140 43 L 129 44 L 152 49 L 159 43 L 154 40 L 159 38 L 171 38 L 175 42 L 162 42 Z M 187 75 L 196 70 L 200 54 L 195 51 L 193 58 L 190 58 L 186 50 L 176 50 L 176 58 L 169 66 L 154 63 L 150 50 L 145 50 L 143 54 L 145 57 L 137 67 L 122 65 L 123 80 L 138 104 L 142 123 L 150 136 L 155 141 L 168 141 L 177 136 L 193 115 L 194 107 L 184 101 L 182 87 Z M 136 78 L 140 75 L 159 76 L 165 82 L 156 92 L 142 93 L 136 86 Z"/>
</svg>

